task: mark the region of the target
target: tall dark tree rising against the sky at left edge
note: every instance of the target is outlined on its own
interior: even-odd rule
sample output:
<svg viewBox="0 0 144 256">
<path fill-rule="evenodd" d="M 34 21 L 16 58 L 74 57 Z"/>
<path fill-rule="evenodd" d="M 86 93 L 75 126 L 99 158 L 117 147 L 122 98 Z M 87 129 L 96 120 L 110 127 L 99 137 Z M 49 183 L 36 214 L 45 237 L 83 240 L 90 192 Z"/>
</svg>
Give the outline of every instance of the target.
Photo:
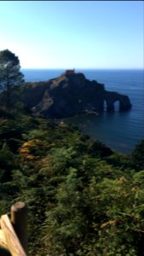
<svg viewBox="0 0 144 256">
<path fill-rule="evenodd" d="M 6 90 L 7 106 L 9 106 L 11 88 L 24 82 L 20 73 L 20 61 L 9 49 L 0 51 L 0 89 Z"/>
</svg>

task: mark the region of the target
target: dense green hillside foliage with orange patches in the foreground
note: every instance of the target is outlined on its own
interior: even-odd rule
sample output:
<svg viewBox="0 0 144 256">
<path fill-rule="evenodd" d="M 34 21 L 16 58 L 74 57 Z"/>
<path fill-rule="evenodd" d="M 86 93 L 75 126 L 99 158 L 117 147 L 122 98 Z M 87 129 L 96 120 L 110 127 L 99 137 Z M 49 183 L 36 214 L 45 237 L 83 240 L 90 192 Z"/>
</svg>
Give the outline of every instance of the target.
<svg viewBox="0 0 144 256">
<path fill-rule="evenodd" d="M 65 123 L 0 115 L 0 213 L 26 202 L 30 255 L 143 255 L 144 141 L 123 155 Z"/>
</svg>

